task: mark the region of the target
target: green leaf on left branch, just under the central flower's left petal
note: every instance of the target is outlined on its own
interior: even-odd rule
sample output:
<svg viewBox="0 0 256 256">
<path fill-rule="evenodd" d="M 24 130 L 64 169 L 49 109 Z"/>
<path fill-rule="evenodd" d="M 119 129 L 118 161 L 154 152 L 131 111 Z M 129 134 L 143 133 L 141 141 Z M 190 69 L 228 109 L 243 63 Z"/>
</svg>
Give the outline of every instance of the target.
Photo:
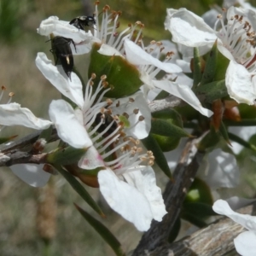
<svg viewBox="0 0 256 256">
<path fill-rule="evenodd" d="M 67 166 L 77 163 L 86 152 L 86 148 L 58 148 L 47 154 L 46 161 L 52 165 Z"/>
</svg>

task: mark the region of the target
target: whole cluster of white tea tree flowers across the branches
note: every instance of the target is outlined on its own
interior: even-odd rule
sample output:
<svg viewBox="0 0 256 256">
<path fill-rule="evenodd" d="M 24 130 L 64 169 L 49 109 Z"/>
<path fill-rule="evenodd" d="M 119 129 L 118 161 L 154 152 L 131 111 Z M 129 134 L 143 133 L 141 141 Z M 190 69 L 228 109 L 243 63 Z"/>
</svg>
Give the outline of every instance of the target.
<svg viewBox="0 0 256 256">
<path fill-rule="evenodd" d="M 241 2 L 241 6 L 247 8 Z M 226 4 L 228 6 L 230 3 Z M 27 108 L 8 102 L 0 105 L 0 124 L 23 125 L 38 130 L 55 125 L 63 142 L 73 148 L 86 149 L 78 163 L 80 168 L 101 168 L 97 179 L 109 206 L 135 224 L 137 230 L 148 230 L 152 219 L 161 221 L 166 214 L 161 191 L 156 185 L 151 167 L 154 155 L 151 151 L 145 152 L 140 142 L 148 137 L 151 129 L 148 93 L 165 90 L 187 102 L 202 115 L 211 117 L 212 111 L 202 106 L 192 90 L 191 81 L 186 79 L 183 71 L 189 67 L 188 60 L 193 57 L 194 47 L 204 55 L 217 42 L 218 50 L 230 60 L 225 74 L 229 96 L 237 103 L 253 105 L 256 99 L 256 14 L 253 9 L 245 8 L 230 6 L 229 9 L 223 9 L 223 14 L 216 18 L 214 28 L 187 9 L 167 9 L 166 29 L 172 33 L 172 41 L 178 45 L 183 55 L 183 60 L 176 60 L 177 64 L 170 61 L 173 54 L 170 51 L 166 52 L 166 60 L 160 61 L 163 53 L 161 43 L 152 41 L 148 46 L 143 44 L 141 22 L 137 21 L 134 26 L 117 33 L 119 13 L 109 12 L 108 6 L 102 11 L 100 25 L 96 4 L 93 17 L 96 19 L 95 24 L 91 24 L 88 32 L 51 16 L 41 22 L 38 28 L 40 35 L 51 39 L 67 38 L 65 42 L 70 46 L 72 55 L 90 53 L 95 44 L 99 45 L 97 52 L 100 55 L 119 56 L 135 67 L 141 88 L 131 96 L 107 98 L 106 95 L 112 90 L 111 86 L 115 84 L 108 84 L 108 77 L 104 73 L 100 74 L 101 79 L 97 83 L 94 81 L 98 74 L 90 74 L 91 77 L 83 88 L 83 82 L 72 68 L 67 73 L 63 64 L 55 66 L 47 55 L 39 52 L 36 58 L 38 69 L 76 107 L 73 108 L 63 99 L 53 100 L 49 105 L 50 120 L 43 120 L 36 118 Z M 217 29 L 219 25 L 220 29 Z M 53 46 L 53 49 L 54 47 L 60 47 L 60 44 Z M 56 53 L 56 49 L 53 51 Z M 66 58 L 67 65 L 70 65 L 70 56 L 63 57 Z M 172 74 L 175 79 L 156 79 L 161 70 Z M 0 100 L 1 97 L 2 95 Z M 170 165 L 173 158 L 177 163 L 177 156 L 173 152 L 166 157 Z M 32 186 L 43 186 L 49 180 L 50 175 L 43 171 L 43 166 L 16 165 L 11 168 Z M 207 154 L 200 172 L 213 187 L 234 187 L 239 181 L 234 155 L 219 148 Z M 224 211 L 217 206 L 219 205 L 213 207 L 216 212 L 234 215 L 226 204 L 222 205 Z M 255 232 L 255 227 L 253 230 Z M 241 253 L 241 249 L 238 252 Z"/>
</svg>

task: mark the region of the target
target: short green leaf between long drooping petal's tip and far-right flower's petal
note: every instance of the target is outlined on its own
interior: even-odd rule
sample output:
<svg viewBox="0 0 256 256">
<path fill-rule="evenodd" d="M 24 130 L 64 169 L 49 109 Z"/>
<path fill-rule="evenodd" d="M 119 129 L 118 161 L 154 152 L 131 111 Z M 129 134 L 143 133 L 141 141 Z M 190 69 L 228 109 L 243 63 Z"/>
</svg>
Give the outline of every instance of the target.
<svg viewBox="0 0 256 256">
<path fill-rule="evenodd" d="M 225 96 L 229 96 L 225 80 L 202 84 L 195 89 L 195 92 L 204 95 L 206 97 L 205 101 L 210 103 Z"/>
</svg>

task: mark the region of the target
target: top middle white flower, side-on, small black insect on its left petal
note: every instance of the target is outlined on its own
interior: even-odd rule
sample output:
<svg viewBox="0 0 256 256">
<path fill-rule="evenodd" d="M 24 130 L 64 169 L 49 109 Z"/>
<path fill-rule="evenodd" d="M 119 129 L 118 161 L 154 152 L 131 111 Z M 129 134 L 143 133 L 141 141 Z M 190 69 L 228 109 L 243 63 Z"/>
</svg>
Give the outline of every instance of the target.
<svg viewBox="0 0 256 256">
<path fill-rule="evenodd" d="M 160 52 L 162 50 L 161 44 L 152 42 L 148 47 L 143 45 L 143 24 L 141 22 L 137 21 L 135 26 L 129 26 L 123 32 L 118 33 L 116 28 L 119 27 L 119 12 L 112 12 L 109 14 L 108 11 L 109 7 L 106 6 L 102 12 L 102 22 L 100 26 L 100 21 L 98 20 L 99 12 L 96 4 L 96 26 L 93 27 L 93 37 L 91 37 L 90 32 L 86 33 L 81 31 L 78 28 L 71 26 L 69 23 L 67 24 L 66 21 L 58 21 L 56 17 L 49 17 L 48 20 L 42 21 L 38 28 L 38 33 L 48 36 L 50 33 L 53 33 L 55 36 L 61 35 L 62 37 L 72 38 L 76 47 L 86 47 L 86 49 L 81 50 L 81 52 L 88 52 L 94 44 L 100 44 L 100 49 L 98 50 L 100 54 L 121 56 L 137 67 L 139 78 L 142 81 L 140 86 L 143 85 L 143 91 L 146 96 L 148 95 L 148 91 L 153 90 L 154 88 L 166 90 L 167 92 L 182 98 L 202 114 L 211 116 L 212 111 L 201 106 L 201 102 L 197 99 L 189 86 L 177 84 L 168 80 L 155 79 L 155 76 L 160 70 L 163 70 L 166 73 L 182 72 L 180 67 L 169 61 L 172 57 L 172 53 L 167 53 L 166 61 L 159 61 Z M 99 27 L 101 28 L 99 29 Z M 81 35 L 74 35 L 76 33 L 81 33 Z M 134 38 L 135 33 L 137 36 Z M 83 40 L 85 34 L 88 38 L 84 38 Z M 138 46 L 137 44 L 140 44 L 141 46 Z M 73 51 L 73 53 L 77 54 L 75 51 Z M 92 58 L 91 61 L 94 61 L 94 59 Z M 93 70 L 92 72 L 96 73 L 96 70 Z"/>
</svg>

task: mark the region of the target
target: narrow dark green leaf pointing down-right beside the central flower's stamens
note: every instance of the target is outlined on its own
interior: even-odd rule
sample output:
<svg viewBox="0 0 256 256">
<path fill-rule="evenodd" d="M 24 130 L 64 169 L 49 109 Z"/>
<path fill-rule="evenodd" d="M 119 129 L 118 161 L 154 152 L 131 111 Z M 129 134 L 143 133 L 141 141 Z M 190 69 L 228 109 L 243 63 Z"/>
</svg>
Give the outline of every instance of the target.
<svg viewBox="0 0 256 256">
<path fill-rule="evenodd" d="M 163 154 L 159 144 L 156 142 L 152 134 L 148 134 L 148 137 L 144 138 L 142 142 L 143 145 L 148 148 L 148 150 L 153 152 L 154 161 L 158 166 L 160 166 L 160 169 L 166 174 L 167 177 L 171 178 L 172 173 L 168 166 L 166 156 Z"/>
</svg>

